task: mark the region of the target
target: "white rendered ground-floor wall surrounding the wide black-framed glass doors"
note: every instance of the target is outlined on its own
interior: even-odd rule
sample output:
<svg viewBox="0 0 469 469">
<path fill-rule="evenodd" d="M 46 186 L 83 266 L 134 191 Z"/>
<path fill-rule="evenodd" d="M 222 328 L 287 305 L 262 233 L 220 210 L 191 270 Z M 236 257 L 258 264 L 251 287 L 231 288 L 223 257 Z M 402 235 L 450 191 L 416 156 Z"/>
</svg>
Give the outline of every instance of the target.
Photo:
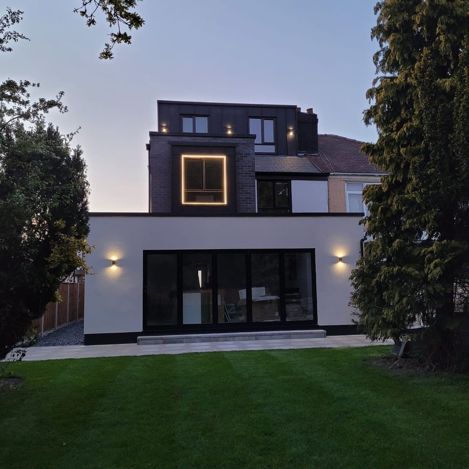
<svg viewBox="0 0 469 469">
<path fill-rule="evenodd" d="M 318 324 L 350 324 L 350 271 L 360 256 L 358 216 L 91 216 L 85 334 L 141 332 L 143 251 L 316 249 Z M 342 257 L 343 263 L 339 263 Z M 112 267 L 112 259 L 116 266 Z"/>
</svg>

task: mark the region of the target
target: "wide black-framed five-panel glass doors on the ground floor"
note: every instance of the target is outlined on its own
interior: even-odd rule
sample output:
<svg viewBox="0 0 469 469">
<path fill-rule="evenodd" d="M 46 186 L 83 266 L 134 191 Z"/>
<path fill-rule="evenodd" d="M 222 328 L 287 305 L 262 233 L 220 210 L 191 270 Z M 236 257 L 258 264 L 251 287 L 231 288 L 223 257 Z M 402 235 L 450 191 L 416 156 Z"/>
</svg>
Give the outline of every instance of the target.
<svg viewBox="0 0 469 469">
<path fill-rule="evenodd" d="M 317 324 L 314 253 L 314 249 L 144 251 L 144 330 Z"/>
</svg>

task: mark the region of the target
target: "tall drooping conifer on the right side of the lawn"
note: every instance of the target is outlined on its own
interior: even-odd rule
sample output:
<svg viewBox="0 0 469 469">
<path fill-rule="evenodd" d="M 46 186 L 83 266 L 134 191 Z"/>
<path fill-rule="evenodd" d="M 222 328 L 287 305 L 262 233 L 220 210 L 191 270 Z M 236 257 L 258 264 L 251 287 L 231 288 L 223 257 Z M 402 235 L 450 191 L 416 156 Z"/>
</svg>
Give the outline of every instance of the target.
<svg viewBox="0 0 469 469">
<path fill-rule="evenodd" d="M 421 321 L 427 359 L 448 367 L 469 318 L 469 1 L 385 0 L 375 14 L 364 120 L 379 137 L 362 151 L 388 175 L 363 193 L 373 240 L 351 303 L 372 339 Z"/>
</svg>

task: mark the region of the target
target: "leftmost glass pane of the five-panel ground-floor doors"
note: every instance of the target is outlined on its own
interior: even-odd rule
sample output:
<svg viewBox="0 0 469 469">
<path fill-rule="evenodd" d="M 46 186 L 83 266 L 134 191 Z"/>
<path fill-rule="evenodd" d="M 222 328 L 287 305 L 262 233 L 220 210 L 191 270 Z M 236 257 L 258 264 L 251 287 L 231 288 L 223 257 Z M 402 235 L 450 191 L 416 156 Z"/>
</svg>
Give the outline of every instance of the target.
<svg viewBox="0 0 469 469">
<path fill-rule="evenodd" d="M 177 258 L 147 256 L 147 326 L 177 324 Z"/>
</svg>

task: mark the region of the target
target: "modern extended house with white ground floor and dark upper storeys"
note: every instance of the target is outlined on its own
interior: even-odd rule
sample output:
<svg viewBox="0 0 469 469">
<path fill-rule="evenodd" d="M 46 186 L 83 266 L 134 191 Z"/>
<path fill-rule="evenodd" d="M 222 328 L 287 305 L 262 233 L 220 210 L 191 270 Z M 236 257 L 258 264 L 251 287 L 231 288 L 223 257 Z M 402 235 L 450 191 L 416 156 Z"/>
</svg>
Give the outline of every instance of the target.
<svg viewBox="0 0 469 469">
<path fill-rule="evenodd" d="M 323 137 L 313 109 L 158 101 L 149 212 L 90 217 L 85 343 L 353 332 L 349 276 L 363 230 L 347 184 L 371 175 L 344 172 Z M 351 203 L 340 205 L 331 181 Z"/>
</svg>

